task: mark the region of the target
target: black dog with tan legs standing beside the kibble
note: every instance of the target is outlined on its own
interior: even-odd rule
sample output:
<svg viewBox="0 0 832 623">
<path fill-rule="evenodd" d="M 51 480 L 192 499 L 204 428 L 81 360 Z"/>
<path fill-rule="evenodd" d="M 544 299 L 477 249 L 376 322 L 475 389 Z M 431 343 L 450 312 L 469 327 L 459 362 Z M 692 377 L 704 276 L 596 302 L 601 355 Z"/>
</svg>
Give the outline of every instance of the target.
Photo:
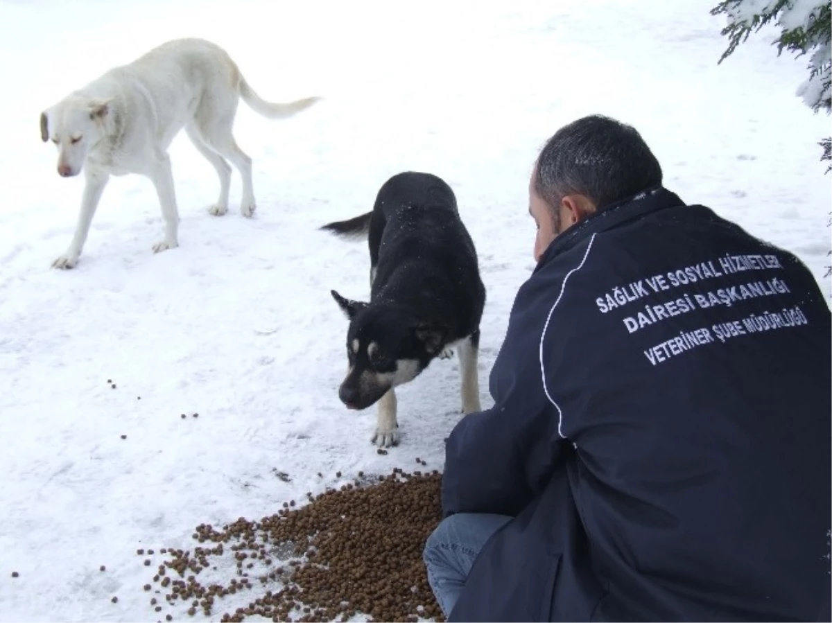
<svg viewBox="0 0 832 623">
<path fill-rule="evenodd" d="M 477 358 L 485 287 L 456 196 L 437 176 L 406 172 L 379 190 L 373 211 L 322 230 L 369 239 L 370 301 L 344 299 L 349 370 L 339 398 L 351 409 L 379 402 L 371 441 L 399 442 L 394 388 L 456 346 L 463 413 L 480 410 Z"/>
</svg>

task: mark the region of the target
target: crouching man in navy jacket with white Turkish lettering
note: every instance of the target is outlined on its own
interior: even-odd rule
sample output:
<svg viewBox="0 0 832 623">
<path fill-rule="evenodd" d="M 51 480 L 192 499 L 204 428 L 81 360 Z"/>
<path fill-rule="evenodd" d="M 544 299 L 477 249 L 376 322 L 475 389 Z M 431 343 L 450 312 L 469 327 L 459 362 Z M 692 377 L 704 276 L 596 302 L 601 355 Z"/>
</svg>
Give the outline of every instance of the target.
<svg viewBox="0 0 832 623">
<path fill-rule="evenodd" d="M 832 621 L 832 314 L 661 183 L 602 116 L 537 160 L 537 267 L 424 551 L 449 623 Z"/>
</svg>

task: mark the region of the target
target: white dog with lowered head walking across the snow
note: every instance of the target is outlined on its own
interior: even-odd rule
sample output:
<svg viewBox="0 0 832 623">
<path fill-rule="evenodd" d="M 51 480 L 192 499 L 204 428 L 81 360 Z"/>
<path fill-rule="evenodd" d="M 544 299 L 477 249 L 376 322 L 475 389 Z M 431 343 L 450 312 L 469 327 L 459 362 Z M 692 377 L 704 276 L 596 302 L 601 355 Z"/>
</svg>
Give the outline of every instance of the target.
<svg viewBox="0 0 832 623">
<path fill-rule="evenodd" d="M 243 179 L 240 212 L 250 216 L 255 210 L 251 159 L 232 134 L 240 96 L 252 110 L 269 118 L 292 116 L 320 99 L 307 97 L 285 104 L 264 101 L 221 47 L 201 39 L 181 39 L 111 69 L 43 111 L 41 138 L 57 145 L 58 174 L 71 177 L 84 171 L 86 177 L 72 243 L 52 266 L 68 269 L 77 264 L 111 175 L 138 173 L 152 180 L 165 221 L 165 239 L 153 245 L 153 250 L 179 245 L 179 214 L 167 149 L 183 127 L 220 176 L 220 197 L 210 213 L 220 216 L 228 210 L 231 167 L 227 158 Z"/>
</svg>

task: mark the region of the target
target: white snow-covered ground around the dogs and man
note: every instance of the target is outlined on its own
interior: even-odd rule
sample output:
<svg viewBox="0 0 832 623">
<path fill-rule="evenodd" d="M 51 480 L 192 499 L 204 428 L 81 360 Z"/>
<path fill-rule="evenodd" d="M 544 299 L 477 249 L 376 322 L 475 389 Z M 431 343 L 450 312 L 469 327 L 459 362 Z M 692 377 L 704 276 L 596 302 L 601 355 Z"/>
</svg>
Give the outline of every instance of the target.
<svg viewBox="0 0 832 623">
<path fill-rule="evenodd" d="M 387 456 L 369 443 L 374 410 L 337 398 L 347 323 L 329 290 L 366 296 L 369 259 L 316 228 L 369 210 L 396 172 L 448 180 L 478 245 L 483 406 L 532 269 L 532 161 L 584 114 L 634 124 L 671 190 L 794 251 L 832 294 L 829 118 L 795 96 L 804 61 L 776 57 L 770 32 L 717 67 L 714 3 L 0 0 L 0 621 L 156 621 L 136 548 L 190 546 L 197 524 L 271 514 L 336 471 L 441 468 L 456 359 L 401 389 Z M 229 214 L 207 214 L 215 173 L 181 136 L 181 247 L 151 253 L 156 195 L 126 177 L 77 269 L 50 269 L 82 180 L 57 176 L 37 116 L 185 36 L 224 46 L 266 99 L 326 99 L 282 122 L 240 105 L 253 220 L 236 211 L 236 171 Z"/>
</svg>

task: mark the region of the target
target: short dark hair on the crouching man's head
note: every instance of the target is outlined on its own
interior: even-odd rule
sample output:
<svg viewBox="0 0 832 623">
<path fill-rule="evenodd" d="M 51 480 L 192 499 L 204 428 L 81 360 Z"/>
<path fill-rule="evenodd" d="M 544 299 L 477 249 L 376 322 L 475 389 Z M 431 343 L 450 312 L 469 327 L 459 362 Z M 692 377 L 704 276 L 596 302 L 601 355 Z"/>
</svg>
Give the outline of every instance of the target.
<svg viewBox="0 0 832 623">
<path fill-rule="evenodd" d="M 661 166 L 632 126 L 585 116 L 563 126 L 537 156 L 534 188 L 552 208 L 566 195 L 587 196 L 598 210 L 661 185 Z"/>
</svg>

